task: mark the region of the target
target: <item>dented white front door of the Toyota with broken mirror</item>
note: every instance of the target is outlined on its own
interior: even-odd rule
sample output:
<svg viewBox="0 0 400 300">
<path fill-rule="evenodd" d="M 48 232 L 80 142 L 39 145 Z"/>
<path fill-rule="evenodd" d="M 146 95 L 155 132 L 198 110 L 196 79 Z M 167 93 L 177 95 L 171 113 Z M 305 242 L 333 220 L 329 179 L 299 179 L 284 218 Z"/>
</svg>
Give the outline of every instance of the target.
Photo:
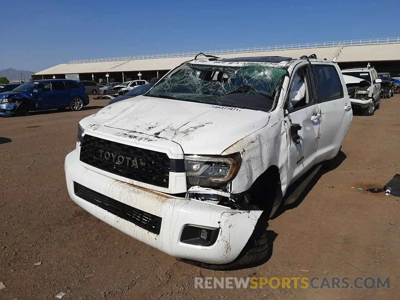
<svg viewBox="0 0 400 300">
<path fill-rule="evenodd" d="M 308 64 L 298 67 L 291 78 L 286 99 L 285 124 L 288 139 L 288 184 L 310 170 L 316 161 L 321 114 L 314 95 Z"/>
</svg>

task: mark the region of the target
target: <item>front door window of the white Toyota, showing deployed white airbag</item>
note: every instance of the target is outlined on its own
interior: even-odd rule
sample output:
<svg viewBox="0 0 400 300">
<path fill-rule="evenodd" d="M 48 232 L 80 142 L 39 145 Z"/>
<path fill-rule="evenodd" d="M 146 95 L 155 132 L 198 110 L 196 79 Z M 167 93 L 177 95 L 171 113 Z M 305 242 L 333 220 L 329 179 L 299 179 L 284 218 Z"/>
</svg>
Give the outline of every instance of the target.
<svg viewBox="0 0 400 300">
<path fill-rule="evenodd" d="M 289 99 L 286 106 L 288 112 L 311 103 L 306 70 L 306 67 L 298 69 L 293 76 L 292 83 L 290 84 Z"/>
</svg>

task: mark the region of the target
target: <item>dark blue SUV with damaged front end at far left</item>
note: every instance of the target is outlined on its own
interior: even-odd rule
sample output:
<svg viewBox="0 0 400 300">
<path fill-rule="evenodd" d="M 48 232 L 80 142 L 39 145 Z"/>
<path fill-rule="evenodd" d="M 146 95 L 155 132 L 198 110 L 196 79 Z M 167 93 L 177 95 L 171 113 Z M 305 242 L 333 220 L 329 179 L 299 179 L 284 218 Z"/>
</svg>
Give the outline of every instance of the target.
<svg viewBox="0 0 400 300">
<path fill-rule="evenodd" d="M 88 104 L 86 89 L 74 80 L 34 80 L 0 93 L 0 116 L 27 116 L 30 111 L 66 107 L 82 110 Z"/>
</svg>

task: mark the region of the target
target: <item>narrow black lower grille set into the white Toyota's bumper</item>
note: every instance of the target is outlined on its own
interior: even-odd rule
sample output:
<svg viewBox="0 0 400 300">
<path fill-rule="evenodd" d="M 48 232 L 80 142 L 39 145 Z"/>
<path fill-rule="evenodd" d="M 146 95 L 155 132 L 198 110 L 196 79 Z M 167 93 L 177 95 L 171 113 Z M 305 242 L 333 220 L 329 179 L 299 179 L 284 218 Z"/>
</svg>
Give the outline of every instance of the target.
<svg viewBox="0 0 400 300">
<path fill-rule="evenodd" d="M 97 205 L 124 220 L 132 222 L 133 224 L 155 234 L 160 234 L 161 217 L 154 216 L 154 214 L 126 205 L 114 200 L 113 198 L 95 192 L 94 190 L 90 190 L 90 188 L 86 188 L 76 182 L 74 182 L 74 192 L 79 198 Z"/>
</svg>

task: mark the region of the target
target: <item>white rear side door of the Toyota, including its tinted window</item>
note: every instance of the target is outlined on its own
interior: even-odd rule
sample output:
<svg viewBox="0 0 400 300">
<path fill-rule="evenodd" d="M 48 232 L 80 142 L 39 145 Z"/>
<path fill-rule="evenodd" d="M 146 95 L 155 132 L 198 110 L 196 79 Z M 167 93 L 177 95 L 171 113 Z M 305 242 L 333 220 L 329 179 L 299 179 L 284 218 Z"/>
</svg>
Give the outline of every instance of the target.
<svg viewBox="0 0 400 300">
<path fill-rule="evenodd" d="M 313 67 L 317 78 L 317 102 L 321 112 L 317 161 L 322 162 L 338 154 L 352 120 L 352 109 L 346 84 L 339 76 L 339 67 L 320 62 L 313 64 Z"/>
</svg>

